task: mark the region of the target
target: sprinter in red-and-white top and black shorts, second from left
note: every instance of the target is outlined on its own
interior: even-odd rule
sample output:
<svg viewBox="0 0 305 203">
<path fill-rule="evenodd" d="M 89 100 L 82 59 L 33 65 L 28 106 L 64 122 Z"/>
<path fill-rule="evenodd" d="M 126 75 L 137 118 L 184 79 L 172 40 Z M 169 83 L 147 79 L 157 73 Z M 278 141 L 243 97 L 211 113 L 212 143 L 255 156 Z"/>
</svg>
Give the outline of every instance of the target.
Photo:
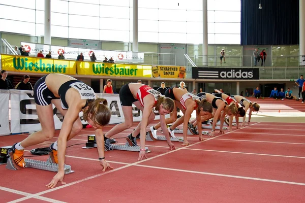
<svg viewBox="0 0 305 203">
<path fill-rule="evenodd" d="M 124 131 L 132 126 L 133 114 L 132 104 L 142 111 L 142 120 L 136 127 L 135 131 L 131 133 L 127 141 L 130 146 L 137 146 L 136 136 L 140 133 L 141 148 L 138 160 L 146 157 L 145 152 L 145 139 L 146 139 L 146 126 L 155 119 L 153 108 L 159 111 L 161 128 L 166 130 L 165 115 L 173 111 L 174 101 L 170 98 L 161 96 L 159 92 L 141 83 L 130 83 L 123 85 L 119 90 L 119 99 L 124 113 L 125 122 L 115 125 L 110 131 L 105 134 L 105 147 L 107 150 L 112 150 L 110 145 L 110 138 L 115 134 Z M 174 145 L 170 142 L 169 135 L 168 145 L 170 149 L 175 149 Z M 147 158 L 147 157 L 146 157 Z"/>
</svg>

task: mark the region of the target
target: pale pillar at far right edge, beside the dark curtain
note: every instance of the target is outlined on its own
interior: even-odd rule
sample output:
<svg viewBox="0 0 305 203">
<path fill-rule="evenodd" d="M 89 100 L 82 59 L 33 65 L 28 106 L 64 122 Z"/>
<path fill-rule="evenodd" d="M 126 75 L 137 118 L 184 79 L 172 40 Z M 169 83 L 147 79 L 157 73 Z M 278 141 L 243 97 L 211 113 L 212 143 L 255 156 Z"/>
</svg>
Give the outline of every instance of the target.
<svg viewBox="0 0 305 203">
<path fill-rule="evenodd" d="M 302 55 L 305 55 L 305 0 L 299 0 L 299 55 L 302 62 Z M 301 64 L 301 63 L 300 63 Z"/>
</svg>

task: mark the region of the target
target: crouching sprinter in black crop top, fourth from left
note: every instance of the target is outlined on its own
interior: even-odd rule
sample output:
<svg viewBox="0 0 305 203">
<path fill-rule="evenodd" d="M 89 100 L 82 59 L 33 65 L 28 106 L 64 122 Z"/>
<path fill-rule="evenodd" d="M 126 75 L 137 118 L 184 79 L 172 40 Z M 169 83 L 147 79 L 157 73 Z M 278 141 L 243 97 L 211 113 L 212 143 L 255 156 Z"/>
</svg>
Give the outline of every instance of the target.
<svg viewBox="0 0 305 203">
<path fill-rule="evenodd" d="M 202 99 L 206 99 L 208 102 L 210 102 L 212 104 L 212 107 L 213 107 L 213 111 L 214 111 L 214 121 L 213 124 L 212 124 L 212 129 L 211 129 L 211 133 L 209 134 L 210 137 L 214 137 L 215 136 L 215 128 L 216 128 L 216 123 L 217 123 L 217 120 L 220 118 L 220 131 L 219 133 L 224 133 L 223 131 L 223 124 L 224 124 L 224 120 L 225 120 L 225 115 L 236 115 L 237 114 L 237 111 L 238 111 L 238 108 L 236 106 L 236 104 L 233 102 L 231 103 L 230 105 L 228 105 L 227 101 L 225 101 L 223 98 L 221 97 L 217 97 L 215 95 L 212 95 L 210 93 L 205 93 L 205 92 L 202 92 L 202 93 L 199 93 L 197 94 L 197 96 L 200 97 L 200 100 Z M 201 118 L 201 120 L 205 121 L 205 120 L 208 120 L 212 118 L 212 115 L 210 116 L 204 116 Z M 194 122 L 194 121 L 192 121 Z M 194 122 L 193 126 L 196 126 L 196 122 Z M 201 125 L 198 125 L 198 128 L 199 126 Z M 200 127 L 201 128 L 201 127 Z"/>
</svg>

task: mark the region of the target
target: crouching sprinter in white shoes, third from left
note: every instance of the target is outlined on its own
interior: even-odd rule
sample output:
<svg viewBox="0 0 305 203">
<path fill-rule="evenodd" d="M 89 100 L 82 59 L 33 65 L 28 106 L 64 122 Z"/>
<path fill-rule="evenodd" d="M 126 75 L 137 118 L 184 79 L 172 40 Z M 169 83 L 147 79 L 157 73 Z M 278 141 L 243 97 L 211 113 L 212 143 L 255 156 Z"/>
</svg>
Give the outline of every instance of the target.
<svg viewBox="0 0 305 203">
<path fill-rule="evenodd" d="M 211 116 L 212 106 L 205 99 L 199 101 L 198 96 L 191 94 L 187 90 L 181 88 L 170 87 L 165 91 L 165 96 L 175 100 L 176 107 L 178 107 L 184 114 L 183 116 L 177 119 L 177 113 L 176 113 L 177 108 L 175 107 L 174 111 L 170 114 L 170 118 L 165 119 L 166 124 L 174 122 L 172 126 L 167 128 L 167 130 L 171 134 L 171 136 L 174 137 L 173 130 L 177 126 L 183 123 L 184 143 L 182 144 L 182 146 L 188 146 L 190 145 L 187 139 L 188 122 L 191 118 L 193 111 L 196 110 L 196 120 L 198 121 L 198 123 L 201 123 L 200 116 L 206 116 L 206 117 Z M 198 127 L 199 140 L 201 141 L 202 140 L 201 125 L 198 126 L 199 126 Z M 157 129 L 159 127 L 160 127 L 160 123 L 158 123 L 155 126 L 151 126 L 149 133 L 156 135 Z M 166 132 L 164 129 L 162 129 L 162 131 L 164 133 Z"/>
</svg>

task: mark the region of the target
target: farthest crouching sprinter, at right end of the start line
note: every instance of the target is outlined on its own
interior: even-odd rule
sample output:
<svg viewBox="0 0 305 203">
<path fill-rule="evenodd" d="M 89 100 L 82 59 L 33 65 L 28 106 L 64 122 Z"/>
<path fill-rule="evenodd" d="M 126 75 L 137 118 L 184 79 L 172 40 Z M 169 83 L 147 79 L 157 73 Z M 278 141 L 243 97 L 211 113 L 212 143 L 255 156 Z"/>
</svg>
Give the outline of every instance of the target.
<svg viewBox="0 0 305 203">
<path fill-rule="evenodd" d="M 248 119 L 248 125 L 250 125 L 252 112 L 253 111 L 259 111 L 259 105 L 256 102 L 252 103 L 249 99 L 247 99 L 243 96 L 232 95 L 231 97 L 234 98 L 241 105 L 241 107 L 245 108 L 245 112 L 247 112 L 248 109 L 250 109 L 249 110 L 249 119 Z M 235 117 L 235 120 L 236 120 L 236 128 L 238 129 L 239 121 L 238 121 L 237 116 Z M 241 127 L 245 127 L 245 121 L 246 121 L 246 114 L 242 118 Z"/>
</svg>

